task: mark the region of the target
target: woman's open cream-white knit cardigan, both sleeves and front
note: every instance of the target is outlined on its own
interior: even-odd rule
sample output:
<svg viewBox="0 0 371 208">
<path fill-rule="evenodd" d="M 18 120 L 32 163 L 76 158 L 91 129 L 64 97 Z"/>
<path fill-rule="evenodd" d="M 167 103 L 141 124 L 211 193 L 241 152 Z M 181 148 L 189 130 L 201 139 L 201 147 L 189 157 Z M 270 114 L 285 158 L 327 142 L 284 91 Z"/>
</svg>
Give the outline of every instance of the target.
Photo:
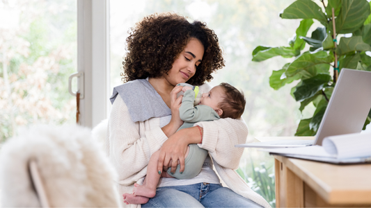
<svg viewBox="0 0 371 208">
<path fill-rule="evenodd" d="M 209 85 L 201 85 L 200 92 L 208 92 Z M 271 207 L 258 193 L 255 193 L 238 175 L 236 170 L 243 148 L 235 144 L 246 142 L 248 129 L 243 120 L 219 119 L 196 123 L 203 128 L 203 142 L 200 148 L 208 150 L 221 180 L 245 198 L 253 200 L 263 207 Z M 109 116 L 109 128 L 106 137 L 106 153 L 118 171 L 117 188 L 122 207 L 140 207 L 125 205 L 123 193 L 132 193 L 135 182 L 143 181 L 152 153 L 155 153 L 168 139 L 159 125 L 159 118 L 133 122 L 127 106 L 118 95 L 113 102 Z"/>
</svg>

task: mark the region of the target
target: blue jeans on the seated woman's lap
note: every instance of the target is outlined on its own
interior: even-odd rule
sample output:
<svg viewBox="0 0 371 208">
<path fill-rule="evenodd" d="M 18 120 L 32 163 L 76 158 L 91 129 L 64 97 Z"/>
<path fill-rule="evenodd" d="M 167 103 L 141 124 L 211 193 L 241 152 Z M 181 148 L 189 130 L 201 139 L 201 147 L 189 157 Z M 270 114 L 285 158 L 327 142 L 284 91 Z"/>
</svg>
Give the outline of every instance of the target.
<svg viewBox="0 0 371 208">
<path fill-rule="evenodd" d="M 262 207 L 220 184 L 159 187 L 142 207 Z"/>
</svg>

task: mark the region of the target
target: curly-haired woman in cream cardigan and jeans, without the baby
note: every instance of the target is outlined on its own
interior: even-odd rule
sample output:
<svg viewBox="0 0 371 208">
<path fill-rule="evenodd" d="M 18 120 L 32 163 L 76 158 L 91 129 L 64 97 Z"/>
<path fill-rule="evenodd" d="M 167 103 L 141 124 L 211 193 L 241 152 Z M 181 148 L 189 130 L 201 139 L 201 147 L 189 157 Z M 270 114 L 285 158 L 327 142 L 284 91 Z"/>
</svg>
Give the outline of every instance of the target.
<svg viewBox="0 0 371 208">
<path fill-rule="evenodd" d="M 177 83 L 200 85 L 201 92 L 208 92 L 205 80 L 224 66 L 214 31 L 179 15 L 150 15 L 132 28 L 127 50 L 122 74 L 126 83 L 113 89 L 106 142 L 123 200 L 134 183 L 143 182 L 152 153 L 161 148 L 160 169 L 175 170 L 179 161 L 183 171 L 187 146 L 199 144 L 212 157 L 207 157 L 201 173 L 189 180 L 162 178 L 155 198 L 143 207 L 270 207 L 233 171 L 243 152 L 234 146 L 244 143 L 248 132 L 244 121 L 200 122 L 200 129 L 176 132 L 183 123 L 182 97 L 176 98 L 182 87 Z M 229 189 L 221 186 L 213 164 Z"/>
</svg>

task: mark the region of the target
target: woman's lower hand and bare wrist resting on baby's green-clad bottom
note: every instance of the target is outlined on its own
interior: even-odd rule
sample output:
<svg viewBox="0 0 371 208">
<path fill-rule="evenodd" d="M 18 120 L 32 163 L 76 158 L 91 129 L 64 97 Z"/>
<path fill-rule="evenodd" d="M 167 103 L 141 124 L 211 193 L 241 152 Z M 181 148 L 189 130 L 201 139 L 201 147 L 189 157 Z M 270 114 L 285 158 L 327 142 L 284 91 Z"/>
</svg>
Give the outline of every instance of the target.
<svg viewBox="0 0 371 208">
<path fill-rule="evenodd" d="M 202 134 L 203 128 L 200 129 Z M 198 144 L 200 141 L 201 135 L 197 126 L 177 131 L 162 144 L 159 150 L 157 170 L 161 172 L 162 168 L 164 170 L 171 168 L 171 173 L 175 173 L 179 160 L 180 173 L 182 173 L 184 171 L 184 155 L 187 152 L 188 145 Z"/>
</svg>

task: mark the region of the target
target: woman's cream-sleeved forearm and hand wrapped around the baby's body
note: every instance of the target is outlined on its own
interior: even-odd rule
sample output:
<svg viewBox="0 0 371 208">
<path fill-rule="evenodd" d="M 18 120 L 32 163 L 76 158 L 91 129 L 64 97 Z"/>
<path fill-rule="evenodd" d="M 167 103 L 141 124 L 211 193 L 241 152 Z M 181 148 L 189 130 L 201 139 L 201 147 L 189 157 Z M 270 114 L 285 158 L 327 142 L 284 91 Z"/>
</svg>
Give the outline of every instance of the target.
<svg viewBox="0 0 371 208">
<path fill-rule="evenodd" d="M 179 159 L 180 172 L 184 171 L 184 153 L 189 144 L 198 144 L 200 148 L 208 150 L 212 158 L 219 165 L 237 169 L 239 159 L 244 148 L 236 148 L 236 144 L 246 142 L 248 129 L 242 119 L 219 119 L 196 123 L 192 128 L 184 128 L 168 138 L 159 153 L 158 168 L 165 168 L 171 160 Z M 201 139 L 202 135 L 202 139 Z M 199 144 L 202 140 L 202 144 Z M 173 163 L 171 163 L 173 165 Z M 175 169 L 176 163 L 171 166 Z"/>
</svg>

